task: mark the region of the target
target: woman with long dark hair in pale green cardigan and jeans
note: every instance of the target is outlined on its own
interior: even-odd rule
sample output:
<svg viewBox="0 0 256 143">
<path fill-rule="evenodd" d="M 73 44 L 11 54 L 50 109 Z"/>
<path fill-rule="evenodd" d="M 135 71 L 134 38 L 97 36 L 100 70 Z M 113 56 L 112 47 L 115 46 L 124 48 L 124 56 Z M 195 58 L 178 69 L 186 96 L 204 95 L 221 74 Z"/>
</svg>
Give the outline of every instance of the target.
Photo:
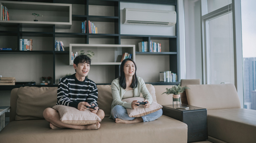
<svg viewBox="0 0 256 143">
<path fill-rule="evenodd" d="M 120 66 L 120 76 L 119 78 L 113 80 L 111 84 L 113 102 L 111 105 L 111 116 L 116 123 L 138 123 L 138 122 L 147 122 L 158 119 L 162 115 L 162 109 L 153 112 L 151 114 L 132 118 L 129 117 L 126 111 L 126 108 L 136 109 L 137 100 L 134 100 L 132 103 L 122 102 L 122 99 L 139 97 L 142 93 L 145 98 L 144 102 L 148 102 L 143 105 L 144 108 L 149 108 L 152 103 L 152 96 L 148 92 L 148 89 L 145 85 L 145 82 L 141 77 L 136 75 L 137 66 L 135 62 L 130 59 L 124 59 Z M 141 101 L 140 101 L 141 102 Z"/>
</svg>

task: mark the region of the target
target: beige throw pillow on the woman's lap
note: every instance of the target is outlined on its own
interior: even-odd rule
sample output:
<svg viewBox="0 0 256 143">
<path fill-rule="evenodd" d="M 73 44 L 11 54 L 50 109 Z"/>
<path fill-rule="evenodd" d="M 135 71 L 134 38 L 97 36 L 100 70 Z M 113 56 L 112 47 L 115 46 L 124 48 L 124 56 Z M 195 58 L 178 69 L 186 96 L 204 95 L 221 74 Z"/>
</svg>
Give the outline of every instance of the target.
<svg viewBox="0 0 256 143">
<path fill-rule="evenodd" d="M 132 97 L 132 98 L 126 98 L 123 99 L 123 102 L 128 102 L 131 103 L 134 100 L 138 100 L 139 102 L 143 102 L 145 100 L 144 97 Z M 130 109 L 130 108 L 126 108 L 128 116 L 129 117 L 141 117 L 141 116 L 145 116 L 148 115 L 150 113 L 156 112 L 157 110 L 161 109 L 163 106 L 161 106 L 160 104 L 156 103 L 156 102 L 152 102 L 150 104 L 149 108 L 145 108 L 143 105 L 139 105 L 138 108 L 136 109 Z"/>
</svg>

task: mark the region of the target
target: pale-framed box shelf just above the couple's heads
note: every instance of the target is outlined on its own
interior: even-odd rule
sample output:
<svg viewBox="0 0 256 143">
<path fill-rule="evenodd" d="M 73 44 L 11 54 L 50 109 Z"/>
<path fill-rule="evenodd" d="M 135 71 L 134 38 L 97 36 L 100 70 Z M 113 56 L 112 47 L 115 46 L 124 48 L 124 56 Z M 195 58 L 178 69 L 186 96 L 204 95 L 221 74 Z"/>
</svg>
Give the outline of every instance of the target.
<svg viewBox="0 0 256 143">
<path fill-rule="evenodd" d="M 132 54 L 135 60 L 135 45 L 117 44 L 70 44 L 69 45 L 69 64 L 73 65 L 73 58 L 79 51 L 92 51 L 95 55 L 91 58 L 91 65 L 120 65 L 122 55 L 127 52 Z M 74 55 L 75 56 L 74 56 Z"/>
</svg>

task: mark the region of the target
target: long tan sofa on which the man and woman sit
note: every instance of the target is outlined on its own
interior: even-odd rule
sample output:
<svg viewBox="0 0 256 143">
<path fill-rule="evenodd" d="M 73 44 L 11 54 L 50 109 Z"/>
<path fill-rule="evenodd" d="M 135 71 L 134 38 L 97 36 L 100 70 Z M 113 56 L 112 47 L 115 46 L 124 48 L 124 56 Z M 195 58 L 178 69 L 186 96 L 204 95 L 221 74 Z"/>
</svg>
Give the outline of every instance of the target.
<svg viewBox="0 0 256 143">
<path fill-rule="evenodd" d="M 165 88 L 146 84 L 153 101 L 172 104 L 172 96 L 161 95 Z M 10 123 L 0 132 L 1 143 L 131 143 L 187 142 L 187 125 L 162 115 L 151 122 L 117 124 L 109 119 L 112 94 L 110 85 L 97 85 L 98 106 L 105 118 L 98 130 L 51 129 L 43 110 L 53 107 L 57 87 L 20 87 L 11 91 Z"/>
</svg>

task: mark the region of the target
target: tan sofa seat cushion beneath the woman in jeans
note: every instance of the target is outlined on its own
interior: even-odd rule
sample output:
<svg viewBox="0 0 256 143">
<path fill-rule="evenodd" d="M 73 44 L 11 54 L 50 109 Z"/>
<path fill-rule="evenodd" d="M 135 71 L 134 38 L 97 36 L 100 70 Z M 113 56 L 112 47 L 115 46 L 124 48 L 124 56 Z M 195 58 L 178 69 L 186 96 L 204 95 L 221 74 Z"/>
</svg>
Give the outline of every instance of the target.
<svg viewBox="0 0 256 143">
<path fill-rule="evenodd" d="M 187 142 L 187 124 L 164 115 L 154 121 L 134 124 L 115 123 L 113 119 L 104 118 L 100 124 L 101 142 L 104 143 Z"/>
</svg>

